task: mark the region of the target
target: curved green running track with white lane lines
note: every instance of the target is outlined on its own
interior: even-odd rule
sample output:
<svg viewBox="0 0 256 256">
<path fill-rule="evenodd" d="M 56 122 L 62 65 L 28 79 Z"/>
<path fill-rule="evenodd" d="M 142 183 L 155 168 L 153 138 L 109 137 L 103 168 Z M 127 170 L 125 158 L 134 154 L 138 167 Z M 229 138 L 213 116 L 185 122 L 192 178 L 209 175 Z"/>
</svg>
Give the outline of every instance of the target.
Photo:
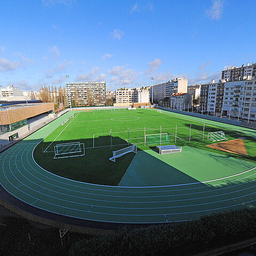
<svg viewBox="0 0 256 256">
<path fill-rule="evenodd" d="M 35 162 L 34 148 L 69 115 L 59 117 L 0 155 L 0 181 L 8 193 L 36 209 L 116 223 L 187 221 L 256 205 L 256 167 L 235 174 L 232 181 L 226 177 L 158 187 L 94 185 L 47 172 Z"/>
</svg>

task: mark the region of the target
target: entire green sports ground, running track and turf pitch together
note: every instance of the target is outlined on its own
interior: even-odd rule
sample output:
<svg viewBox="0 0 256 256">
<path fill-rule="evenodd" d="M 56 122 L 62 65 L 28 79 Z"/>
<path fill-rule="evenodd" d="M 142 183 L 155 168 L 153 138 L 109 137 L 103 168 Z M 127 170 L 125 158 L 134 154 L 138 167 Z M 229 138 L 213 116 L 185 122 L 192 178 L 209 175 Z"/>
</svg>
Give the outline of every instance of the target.
<svg viewBox="0 0 256 256">
<path fill-rule="evenodd" d="M 215 131 L 224 131 L 227 140 L 244 137 L 248 155 L 206 147 L 216 143 L 207 140 L 207 133 Z M 167 134 L 161 143 L 182 146 L 182 153 L 157 155 L 159 141 L 145 141 L 145 133 Z M 0 155 L 0 181 L 6 191 L 23 202 L 75 218 L 121 223 L 191 220 L 256 205 L 255 138 L 254 130 L 155 109 L 73 111 L 4 151 Z M 84 143 L 84 156 L 53 159 L 57 143 L 75 141 Z M 111 143 L 112 150 L 137 143 L 138 153 L 109 161 Z M 154 165 L 149 159 L 154 159 Z M 209 163 L 215 163 L 215 169 Z M 196 164 L 204 169 L 196 170 Z M 160 167 L 154 172 L 152 166 Z M 139 172 L 142 167 L 146 167 L 145 174 Z M 160 182 L 142 187 L 122 184 L 134 170 L 141 175 L 138 180 L 151 176 L 147 182 L 158 178 Z M 163 173 L 161 178 L 152 177 L 146 170 L 155 174 L 170 170 L 168 184 L 161 185 L 161 180 L 166 182 Z M 131 179 L 130 175 L 125 184 Z"/>
</svg>

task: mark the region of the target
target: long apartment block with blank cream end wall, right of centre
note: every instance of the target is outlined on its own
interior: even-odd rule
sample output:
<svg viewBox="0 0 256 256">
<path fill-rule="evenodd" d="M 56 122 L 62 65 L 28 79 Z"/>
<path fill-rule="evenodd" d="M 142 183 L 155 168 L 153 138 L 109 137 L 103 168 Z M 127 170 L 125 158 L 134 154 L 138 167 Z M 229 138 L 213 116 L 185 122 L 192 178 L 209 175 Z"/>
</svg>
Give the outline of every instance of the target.
<svg viewBox="0 0 256 256">
<path fill-rule="evenodd" d="M 153 101 L 158 102 L 163 100 L 166 97 L 170 98 L 172 95 L 177 93 L 187 93 L 188 90 L 188 81 L 186 78 L 177 77 L 168 82 L 162 84 L 155 84 L 150 88 L 150 97 L 152 99 L 153 92 Z"/>
</svg>

